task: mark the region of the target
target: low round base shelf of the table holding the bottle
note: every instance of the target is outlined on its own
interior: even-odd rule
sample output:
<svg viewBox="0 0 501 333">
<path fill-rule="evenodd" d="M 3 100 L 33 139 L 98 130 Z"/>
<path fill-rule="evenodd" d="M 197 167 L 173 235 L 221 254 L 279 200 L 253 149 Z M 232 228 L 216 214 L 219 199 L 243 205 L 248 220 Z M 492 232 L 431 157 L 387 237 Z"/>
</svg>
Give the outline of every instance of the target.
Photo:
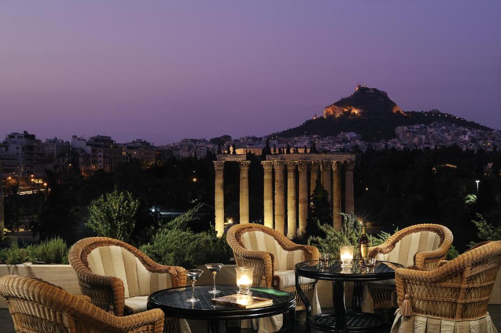
<svg viewBox="0 0 501 333">
<path fill-rule="evenodd" d="M 326 332 L 378 332 L 388 330 L 389 324 L 385 317 L 374 313 L 348 312 L 346 328 L 336 327 L 336 313 L 321 313 L 309 320 L 309 325 Z"/>
</svg>

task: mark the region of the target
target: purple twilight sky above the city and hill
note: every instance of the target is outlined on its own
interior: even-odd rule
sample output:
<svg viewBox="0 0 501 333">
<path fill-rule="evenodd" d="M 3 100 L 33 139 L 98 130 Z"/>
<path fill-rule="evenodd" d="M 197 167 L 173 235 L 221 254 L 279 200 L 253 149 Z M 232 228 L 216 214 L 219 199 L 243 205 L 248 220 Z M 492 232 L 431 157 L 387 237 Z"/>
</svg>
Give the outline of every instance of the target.
<svg viewBox="0 0 501 333">
<path fill-rule="evenodd" d="M 501 128 L 501 2 L 0 3 L 0 138 L 265 135 L 357 83 Z"/>
</svg>

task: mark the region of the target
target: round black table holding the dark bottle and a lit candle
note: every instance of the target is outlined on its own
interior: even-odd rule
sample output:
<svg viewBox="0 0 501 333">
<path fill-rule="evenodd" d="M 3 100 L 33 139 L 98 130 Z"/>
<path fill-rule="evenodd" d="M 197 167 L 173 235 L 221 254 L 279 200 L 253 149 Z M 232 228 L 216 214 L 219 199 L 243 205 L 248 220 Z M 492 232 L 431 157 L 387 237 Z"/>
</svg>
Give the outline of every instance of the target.
<svg viewBox="0 0 501 333">
<path fill-rule="evenodd" d="M 395 278 L 395 269 L 403 267 L 398 263 L 376 261 L 373 268 L 367 268 L 359 261 L 352 267 L 341 266 L 341 260 L 300 262 L 295 266 L 296 290 L 306 305 L 307 327 L 315 327 L 327 332 L 376 332 L 389 328 L 385 317 L 362 312 L 362 296 L 366 281 L 388 280 Z M 334 312 L 312 315 L 312 307 L 301 290 L 299 276 L 315 280 L 332 281 L 332 300 Z M 346 312 L 344 282 L 353 281 L 352 312 Z M 316 283 L 316 282 L 315 282 Z"/>
</svg>

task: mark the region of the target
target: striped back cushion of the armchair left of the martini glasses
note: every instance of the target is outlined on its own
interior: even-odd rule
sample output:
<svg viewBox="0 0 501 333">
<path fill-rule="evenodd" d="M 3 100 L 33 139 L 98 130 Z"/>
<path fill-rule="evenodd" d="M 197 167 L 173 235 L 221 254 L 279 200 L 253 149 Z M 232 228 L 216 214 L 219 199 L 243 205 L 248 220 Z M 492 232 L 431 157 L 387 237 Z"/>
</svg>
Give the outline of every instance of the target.
<svg viewBox="0 0 501 333">
<path fill-rule="evenodd" d="M 87 260 L 93 273 L 120 278 L 124 283 L 125 298 L 147 296 L 172 287 L 170 274 L 148 271 L 134 254 L 120 246 L 95 248 Z"/>
</svg>

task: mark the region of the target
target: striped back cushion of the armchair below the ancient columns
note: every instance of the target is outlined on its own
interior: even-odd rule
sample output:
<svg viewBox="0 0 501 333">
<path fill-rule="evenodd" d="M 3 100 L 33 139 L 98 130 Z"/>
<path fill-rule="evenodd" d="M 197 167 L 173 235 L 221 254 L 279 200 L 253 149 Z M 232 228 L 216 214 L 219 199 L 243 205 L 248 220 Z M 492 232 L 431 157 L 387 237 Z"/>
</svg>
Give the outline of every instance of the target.
<svg viewBox="0 0 501 333">
<path fill-rule="evenodd" d="M 302 250 L 287 251 L 271 235 L 258 230 L 242 233 L 240 244 L 247 250 L 265 251 L 273 256 L 275 270 L 294 270 L 298 262 L 306 261 Z"/>
</svg>

